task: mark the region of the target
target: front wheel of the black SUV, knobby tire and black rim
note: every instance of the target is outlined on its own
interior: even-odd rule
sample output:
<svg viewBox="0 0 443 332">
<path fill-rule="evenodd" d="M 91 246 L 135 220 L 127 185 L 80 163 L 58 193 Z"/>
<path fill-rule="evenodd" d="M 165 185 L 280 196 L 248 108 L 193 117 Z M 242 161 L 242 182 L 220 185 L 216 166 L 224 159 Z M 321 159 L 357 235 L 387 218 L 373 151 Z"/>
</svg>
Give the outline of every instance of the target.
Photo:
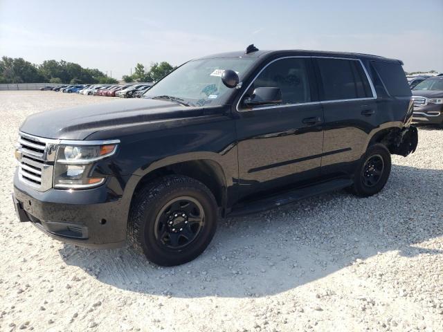
<svg viewBox="0 0 443 332">
<path fill-rule="evenodd" d="M 213 239 L 216 228 L 214 195 L 188 176 L 165 176 L 146 185 L 129 211 L 129 241 L 161 266 L 195 259 Z"/>
</svg>

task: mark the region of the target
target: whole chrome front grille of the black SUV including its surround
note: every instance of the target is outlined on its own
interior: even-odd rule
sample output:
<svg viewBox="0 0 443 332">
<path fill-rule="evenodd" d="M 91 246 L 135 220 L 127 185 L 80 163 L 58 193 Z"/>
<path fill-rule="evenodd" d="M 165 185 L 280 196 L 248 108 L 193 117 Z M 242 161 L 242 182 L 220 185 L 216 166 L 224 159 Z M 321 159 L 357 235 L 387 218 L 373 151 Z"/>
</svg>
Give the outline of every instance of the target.
<svg viewBox="0 0 443 332">
<path fill-rule="evenodd" d="M 19 133 L 19 179 L 35 190 L 44 192 L 52 187 L 53 165 L 57 140 Z"/>
</svg>

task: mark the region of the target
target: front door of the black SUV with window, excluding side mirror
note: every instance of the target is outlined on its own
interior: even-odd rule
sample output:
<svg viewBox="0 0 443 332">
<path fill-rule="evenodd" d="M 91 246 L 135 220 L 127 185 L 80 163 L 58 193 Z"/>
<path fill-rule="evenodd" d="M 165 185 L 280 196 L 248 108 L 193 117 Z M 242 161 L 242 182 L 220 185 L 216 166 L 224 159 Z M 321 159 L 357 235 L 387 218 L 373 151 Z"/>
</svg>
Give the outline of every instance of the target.
<svg viewBox="0 0 443 332">
<path fill-rule="evenodd" d="M 248 109 L 258 87 L 278 87 L 282 103 Z M 296 185 L 320 175 L 323 111 L 309 57 L 269 62 L 237 105 L 239 198 Z"/>
</svg>

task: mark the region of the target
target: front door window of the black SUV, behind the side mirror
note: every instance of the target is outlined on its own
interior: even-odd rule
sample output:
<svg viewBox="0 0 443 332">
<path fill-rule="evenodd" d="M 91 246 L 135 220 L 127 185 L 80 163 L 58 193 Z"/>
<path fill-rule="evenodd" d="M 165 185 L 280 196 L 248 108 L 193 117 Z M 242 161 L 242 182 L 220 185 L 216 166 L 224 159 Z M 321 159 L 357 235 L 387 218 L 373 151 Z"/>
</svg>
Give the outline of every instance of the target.
<svg viewBox="0 0 443 332">
<path fill-rule="evenodd" d="M 272 62 L 258 75 L 246 93 L 255 88 L 276 87 L 282 91 L 282 104 L 298 104 L 311 101 L 307 59 L 288 58 Z"/>
</svg>

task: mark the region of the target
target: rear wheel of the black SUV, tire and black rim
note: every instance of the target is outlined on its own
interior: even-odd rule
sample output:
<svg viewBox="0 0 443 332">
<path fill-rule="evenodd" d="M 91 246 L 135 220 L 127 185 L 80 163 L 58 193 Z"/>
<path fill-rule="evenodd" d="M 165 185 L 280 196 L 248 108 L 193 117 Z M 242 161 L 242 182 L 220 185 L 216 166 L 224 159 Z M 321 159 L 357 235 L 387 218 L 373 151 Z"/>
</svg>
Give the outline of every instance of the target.
<svg viewBox="0 0 443 332">
<path fill-rule="evenodd" d="M 352 194 L 368 197 L 380 192 L 388 182 L 391 169 L 389 150 L 382 144 L 368 147 L 354 173 Z"/>
</svg>

